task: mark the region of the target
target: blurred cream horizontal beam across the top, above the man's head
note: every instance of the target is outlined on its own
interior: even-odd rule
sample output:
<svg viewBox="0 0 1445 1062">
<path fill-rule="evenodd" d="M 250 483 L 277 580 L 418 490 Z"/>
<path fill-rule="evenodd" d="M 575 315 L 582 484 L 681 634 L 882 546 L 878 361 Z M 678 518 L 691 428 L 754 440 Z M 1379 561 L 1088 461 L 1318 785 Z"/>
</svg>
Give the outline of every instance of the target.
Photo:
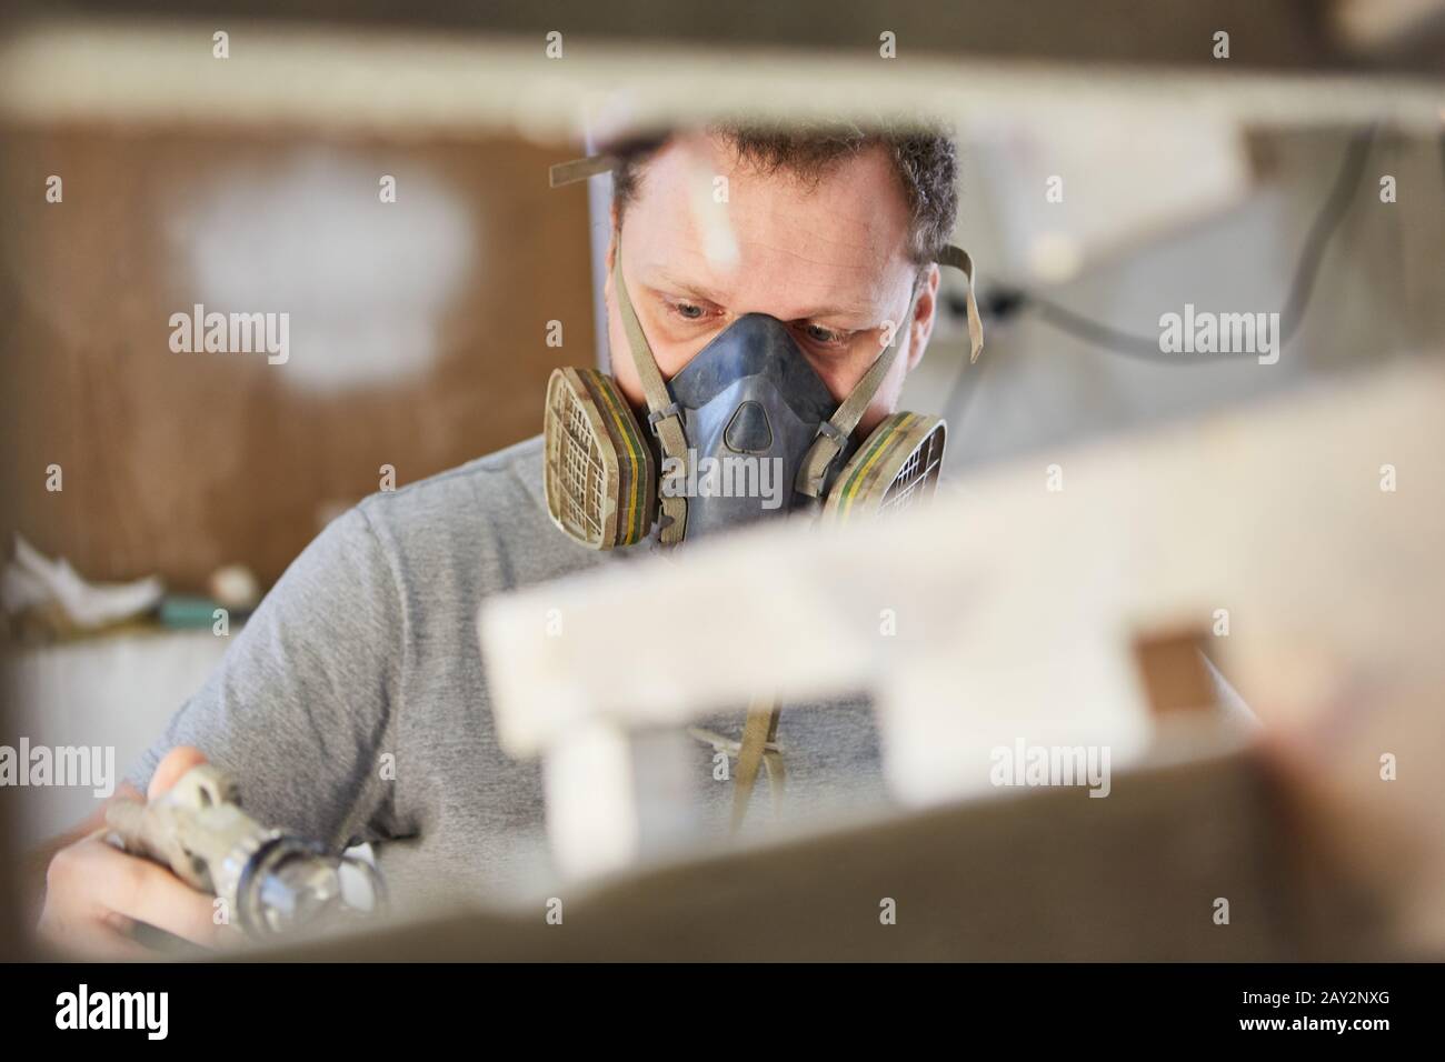
<svg viewBox="0 0 1445 1062">
<path fill-rule="evenodd" d="M 1358 38 L 1376 20 L 1337 32 L 1324 4 L 1113 0 L 1081 16 L 1066 0 L 972 0 L 896 4 L 886 17 L 874 0 L 760 4 L 746 16 L 666 3 L 449 4 L 387 19 L 325 4 L 311 20 L 295 3 L 275 6 L 276 17 L 186 6 L 130 20 L 116 4 L 88 6 L 87 17 L 17 19 L 0 36 L 0 120 L 581 140 L 588 129 L 740 113 L 868 120 L 922 107 L 1061 129 L 1166 107 L 1263 127 L 1387 121 L 1433 133 L 1442 104 L 1438 23 L 1433 35 L 1410 30 L 1423 55 L 1387 51 L 1370 66 Z M 212 51 L 217 32 L 228 35 L 225 59 Z M 1231 35 L 1228 59 L 1215 56 L 1220 32 Z"/>
</svg>

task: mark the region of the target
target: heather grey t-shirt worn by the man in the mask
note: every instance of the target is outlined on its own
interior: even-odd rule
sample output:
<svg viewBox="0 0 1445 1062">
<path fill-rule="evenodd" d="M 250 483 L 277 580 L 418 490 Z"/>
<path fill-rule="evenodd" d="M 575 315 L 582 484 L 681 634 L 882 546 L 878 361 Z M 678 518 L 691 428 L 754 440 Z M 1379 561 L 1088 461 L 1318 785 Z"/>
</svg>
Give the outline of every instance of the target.
<svg viewBox="0 0 1445 1062">
<path fill-rule="evenodd" d="M 373 844 L 403 905 L 532 893 L 551 874 L 540 770 L 497 744 L 477 610 L 647 551 L 590 551 L 552 526 L 540 438 L 374 494 L 296 558 L 127 777 L 144 790 L 169 748 L 195 746 L 263 824 L 334 850 Z M 737 738 L 743 717 L 702 725 Z M 886 802 L 866 698 L 788 705 L 779 741 L 790 824 Z M 721 837 L 731 783 L 711 746 L 688 747 L 699 819 Z M 750 825 L 766 790 L 760 779 Z"/>
</svg>

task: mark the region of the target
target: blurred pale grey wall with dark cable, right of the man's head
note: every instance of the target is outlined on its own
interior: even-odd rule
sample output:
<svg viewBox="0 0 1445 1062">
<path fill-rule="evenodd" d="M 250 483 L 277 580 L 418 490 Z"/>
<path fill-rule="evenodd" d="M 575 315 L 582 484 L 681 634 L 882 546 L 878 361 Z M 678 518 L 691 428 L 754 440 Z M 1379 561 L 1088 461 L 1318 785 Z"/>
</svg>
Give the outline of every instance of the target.
<svg viewBox="0 0 1445 1062">
<path fill-rule="evenodd" d="M 942 341 L 909 379 L 905 405 L 948 416 L 946 474 L 1027 454 L 1052 461 L 1104 433 L 1439 354 L 1441 136 L 1221 129 L 1179 114 L 1131 116 L 1123 142 L 1103 124 L 1058 137 L 980 131 L 961 149 L 957 237 L 974 251 L 985 305 L 1022 302 L 993 316 L 983 358 L 965 370 L 955 301 Z M 1201 182 L 1205 169 L 1215 176 Z M 1045 202 L 1049 175 L 1065 176 L 1064 204 Z M 1383 178 L 1393 202 L 1381 199 Z M 1169 185 L 1185 197 L 1162 195 Z M 1149 201 L 1163 210 L 1143 210 Z M 1010 225 L 1020 212 L 1032 224 Z M 1049 276 L 1055 266 L 1066 275 Z M 1155 342 L 1160 315 L 1186 303 L 1279 311 L 1287 327 L 1292 302 L 1296 327 L 1272 366 L 1142 355 L 1082 324 Z M 1043 305 L 1072 316 L 1061 325 Z"/>
</svg>

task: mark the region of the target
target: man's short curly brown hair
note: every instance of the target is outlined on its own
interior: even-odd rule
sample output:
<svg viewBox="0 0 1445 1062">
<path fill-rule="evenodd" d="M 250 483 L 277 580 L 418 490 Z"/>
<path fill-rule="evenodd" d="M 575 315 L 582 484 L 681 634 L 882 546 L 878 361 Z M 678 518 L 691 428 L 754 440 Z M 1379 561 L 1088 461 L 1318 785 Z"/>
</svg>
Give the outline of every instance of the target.
<svg viewBox="0 0 1445 1062">
<path fill-rule="evenodd" d="M 952 136 L 931 126 L 873 129 L 858 126 L 762 126 L 718 123 L 707 127 L 733 147 L 738 162 L 764 173 L 789 173 L 816 182 L 845 159 L 881 146 L 893 162 L 909 208 L 909 254 L 935 262 L 958 218 L 958 149 Z M 642 168 L 670 137 L 613 146 L 613 199 L 621 217 L 637 194 Z"/>
</svg>

